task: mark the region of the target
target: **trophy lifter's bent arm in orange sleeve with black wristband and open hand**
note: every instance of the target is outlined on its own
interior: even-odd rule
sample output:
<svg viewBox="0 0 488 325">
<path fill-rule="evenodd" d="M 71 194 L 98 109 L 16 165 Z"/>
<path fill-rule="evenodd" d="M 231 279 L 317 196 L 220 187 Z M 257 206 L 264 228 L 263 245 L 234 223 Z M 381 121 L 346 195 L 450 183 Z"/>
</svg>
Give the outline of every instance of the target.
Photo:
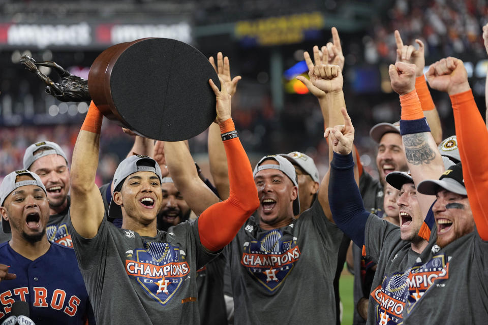
<svg viewBox="0 0 488 325">
<path fill-rule="evenodd" d="M 241 226 L 258 208 L 259 199 L 248 156 L 237 137 L 230 113 L 231 97 L 221 81 L 222 91 L 209 80 L 217 99 L 216 123 L 229 165 L 230 194 L 225 201 L 206 209 L 198 218 L 200 241 L 209 251 L 218 251 L 235 237 Z"/>
</svg>

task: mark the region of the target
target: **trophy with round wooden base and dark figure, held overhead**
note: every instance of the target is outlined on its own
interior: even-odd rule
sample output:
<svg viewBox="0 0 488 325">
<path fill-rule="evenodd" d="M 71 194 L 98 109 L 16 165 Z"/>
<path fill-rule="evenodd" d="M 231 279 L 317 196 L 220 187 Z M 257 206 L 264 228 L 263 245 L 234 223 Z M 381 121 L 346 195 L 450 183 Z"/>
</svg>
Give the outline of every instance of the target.
<svg viewBox="0 0 488 325">
<path fill-rule="evenodd" d="M 95 59 L 88 80 L 52 61 L 22 56 L 21 63 L 58 100 L 93 100 L 105 117 L 146 138 L 186 140 L 216 117 L 208 79 L 220 88 L 217 73 L 200 51 L 180 41 L 145 38 L 111 46 Z M 53 82 L 38 66 L 52 68 L 61 82 Z"/>
</svg>

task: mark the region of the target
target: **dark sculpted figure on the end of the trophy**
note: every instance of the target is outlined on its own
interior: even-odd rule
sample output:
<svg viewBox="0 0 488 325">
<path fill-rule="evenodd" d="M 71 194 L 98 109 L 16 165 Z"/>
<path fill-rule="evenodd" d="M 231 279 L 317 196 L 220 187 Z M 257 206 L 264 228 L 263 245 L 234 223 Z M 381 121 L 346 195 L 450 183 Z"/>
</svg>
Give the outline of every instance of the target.
<svg viewBox="0 0 488 325">
<path fill-rule="evenodd" d="M 41 80 L 43 80 L 47 87 L 46 92 L 53 95 L 55 98 L 62 102 L 89 102 L 90 93 L 88 92 L 88 80 L 74 76 L 63 67 L 59 66 L 53 61 L 36 62 L 32 57 L 22 55 L 20 62 L 24 64 L 25 68 L 32 73 L 35 73 Z M 56 83 L 48 76 L 39 71 L 37 66 L 49 67 L 54 69 L 59 77 L 61 77 L 61 83 Z"/>
</svg>

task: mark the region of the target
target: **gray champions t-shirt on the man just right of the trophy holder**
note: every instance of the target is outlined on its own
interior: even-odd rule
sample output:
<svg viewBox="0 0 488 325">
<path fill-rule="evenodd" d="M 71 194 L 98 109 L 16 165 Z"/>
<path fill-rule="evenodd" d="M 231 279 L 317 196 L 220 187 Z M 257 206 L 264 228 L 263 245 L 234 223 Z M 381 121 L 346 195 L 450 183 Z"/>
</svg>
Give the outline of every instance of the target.
<svg viewBox="0 0 488 325">
<path fill-rule="evenodd" d="M 225 248 L 234 324 L 335 323 L 333 279 L 343 233 L 318 200 L 286 227 L 251 216 Z"/>
</svg>

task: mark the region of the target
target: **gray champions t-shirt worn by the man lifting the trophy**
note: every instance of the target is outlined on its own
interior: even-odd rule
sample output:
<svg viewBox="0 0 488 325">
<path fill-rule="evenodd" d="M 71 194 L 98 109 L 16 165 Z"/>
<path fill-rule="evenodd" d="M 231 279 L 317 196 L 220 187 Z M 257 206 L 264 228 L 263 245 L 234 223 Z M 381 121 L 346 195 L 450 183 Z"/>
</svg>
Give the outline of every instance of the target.
<svg viewBox="0 0 488 325">
<path fill-rule="evenodd" d="M 86 239 L 72 229 L 98 324 L 198 324 L 197 270 L 217 254 L 200 242 L 198 220 L 141 237 L 103 218 Z"/>
</svg>

